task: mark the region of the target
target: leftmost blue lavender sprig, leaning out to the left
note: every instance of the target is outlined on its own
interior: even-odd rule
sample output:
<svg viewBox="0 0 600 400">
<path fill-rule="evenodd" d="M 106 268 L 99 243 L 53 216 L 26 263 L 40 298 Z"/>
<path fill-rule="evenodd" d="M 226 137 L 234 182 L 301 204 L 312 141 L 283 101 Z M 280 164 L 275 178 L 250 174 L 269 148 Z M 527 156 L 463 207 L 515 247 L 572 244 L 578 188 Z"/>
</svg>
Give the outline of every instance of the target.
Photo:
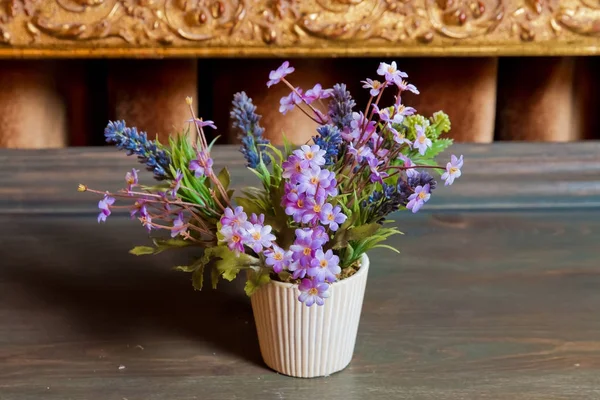
<svg viewBox="0 0 600 400">
<path fill-rule="evenodd" d="M 159 148 L 156 141 L 148 140 L 146 132 L 138 132 L 136 127 L 129 128 L 125 121 L 110 121 L 104 129 L 104 136 L 108 143 L 127 150 L 128 156 L 136 154 L 138 161 L 146 164 L 146 168 L 154 173 L 156 179 L 171 178 L 169 153 Z"/>
</svg>

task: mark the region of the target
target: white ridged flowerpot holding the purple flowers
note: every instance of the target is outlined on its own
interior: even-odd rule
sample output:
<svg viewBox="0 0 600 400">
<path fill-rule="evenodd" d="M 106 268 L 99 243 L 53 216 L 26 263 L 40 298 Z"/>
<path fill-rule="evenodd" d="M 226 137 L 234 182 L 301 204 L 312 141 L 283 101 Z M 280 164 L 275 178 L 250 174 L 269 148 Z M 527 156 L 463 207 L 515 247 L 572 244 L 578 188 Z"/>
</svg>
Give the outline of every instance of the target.
<svg viewBox="0 0 600 400">
<path fill-rule="evenodd" d="M 341 371 L 354 353 L 369 258 L 348 279 L 333 283 L 325 305 L 306 307 L 298 285 L 271 281 L 252 297 L 260 352 L 277 372 L 314 378 Z"/>
</svg>

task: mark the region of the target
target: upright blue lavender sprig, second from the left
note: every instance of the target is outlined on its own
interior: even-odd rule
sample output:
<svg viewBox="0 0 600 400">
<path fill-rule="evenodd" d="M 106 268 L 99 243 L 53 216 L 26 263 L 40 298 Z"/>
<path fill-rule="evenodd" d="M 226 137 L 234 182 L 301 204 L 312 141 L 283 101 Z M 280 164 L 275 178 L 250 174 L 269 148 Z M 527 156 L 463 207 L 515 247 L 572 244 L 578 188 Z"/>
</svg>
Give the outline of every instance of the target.
<svg viewBox="0 0 600 400">
<path fill-rule="evenodd" d="M 233 127 L 241 131 L 240 152 L 246 158 L 247 166 L 256 168 L 261 158 L 265 165 L 269 165 L 271 159 L 262 151 L 262 147 L 269 144 L 269 140 L 262 137 L 265 129 L 259 124 L 261 116 L 256 114 L 256 106 L 252 103 L 252 99 L 245 92 L 239 92 L 233 96 L 232 104 L 233 108 L 229 115 L 233 120 Z"/>
</svg>

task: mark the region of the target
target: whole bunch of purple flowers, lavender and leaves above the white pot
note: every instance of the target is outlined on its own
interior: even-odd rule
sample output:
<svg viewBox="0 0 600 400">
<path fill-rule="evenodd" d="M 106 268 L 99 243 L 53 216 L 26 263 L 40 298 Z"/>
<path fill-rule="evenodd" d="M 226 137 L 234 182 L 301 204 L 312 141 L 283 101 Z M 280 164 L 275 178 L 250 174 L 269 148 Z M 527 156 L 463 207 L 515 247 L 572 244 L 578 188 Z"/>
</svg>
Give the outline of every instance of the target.
<svg viewBox="0 0 600 400">
<path fill-rule="evenodd" d="M 386 217 L 397 210 L 416 213 L 429 201 L 437 182 L 428 171 L 440 171 L 446 186 L 461 176 L 462 156 L 452 155 L 445 166 L 435 162 L 452 144 L 442 138 L 450 130 L 448 116 L 439 111 L 426 118 L 402 104 L 405 91 L 419 91 L 395 62 L 379 65 L 380 80 L 362 82 L 370 93 L 363 112 L 344 84 L 329 89 L 316 84 L 303 91 L 288 80 L 293 71 L 284 62 L 271 71 L 267 87 L 290 88 L 279 111 L 296 108 L 315 121 L 319 127 L 312 143 L 296 149 L 287 141 L 283 149 L 272 146 L 252 100 L 244 92 L 233 99 L 233 127 L 261 187 L 242 188 L 233 197 L 229 172 L 213 169 L 214 142 L 207 143 L 204 134 L 216 126 L 197 118 L 187 98 L 196 143 L 184 133 L 164 146 L 124 121 L 108 124 L 107 142 L 137 155 L 158 183 L 140 184 L 139 171 L 132 169 L 118 193 L 79 185 L 79 191 L 103 196 L 98 222 L 122 207 L 149 233 L 166 232 L 154 237 L 152 246 L 133 248 L 135 255 L 201 248 L 189 265 L 175 267 L 191 272 L 198 290 L 206 267 L 212 268 L 213 287 L 247 270 L 248 295 L 270 280 L 292 282 L 306 306 L 323 305 L 329 285 L 353 275 L 365 252 L 395 250 L 385 240 L 400 232 L 386 225 Z M 393 104 L 380 105 L 385 91 L 394 91 Z"/>
</svg>

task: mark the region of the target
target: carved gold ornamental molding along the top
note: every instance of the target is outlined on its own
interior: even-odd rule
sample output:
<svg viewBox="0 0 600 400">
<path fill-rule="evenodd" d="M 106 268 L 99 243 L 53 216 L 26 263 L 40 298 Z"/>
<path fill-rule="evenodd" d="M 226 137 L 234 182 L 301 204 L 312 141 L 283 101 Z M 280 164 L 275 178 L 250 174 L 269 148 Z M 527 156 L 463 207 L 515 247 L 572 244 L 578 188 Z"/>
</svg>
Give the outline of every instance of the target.
<svg viewBox="0 0 600 400">
<path fill-rule="evenodd" d="M 0 0 L 0 56 L 600 54 L 600 0 Z"/>
</svg>

